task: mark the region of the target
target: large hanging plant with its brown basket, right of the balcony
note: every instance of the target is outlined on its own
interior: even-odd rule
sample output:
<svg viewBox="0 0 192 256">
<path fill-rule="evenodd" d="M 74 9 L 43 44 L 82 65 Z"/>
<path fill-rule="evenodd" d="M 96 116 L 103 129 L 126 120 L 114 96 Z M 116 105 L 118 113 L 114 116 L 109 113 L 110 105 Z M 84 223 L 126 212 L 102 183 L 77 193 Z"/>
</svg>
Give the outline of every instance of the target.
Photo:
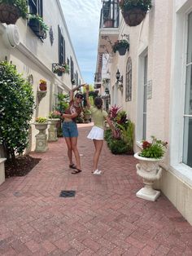
<svg viewBox="0 0 192 256">
<path fill-rule="evenodd" d="M 151 0 L 120 0 L 121 13 L 129 26 L 137 26 L 151 9 Z"/>
</svg>

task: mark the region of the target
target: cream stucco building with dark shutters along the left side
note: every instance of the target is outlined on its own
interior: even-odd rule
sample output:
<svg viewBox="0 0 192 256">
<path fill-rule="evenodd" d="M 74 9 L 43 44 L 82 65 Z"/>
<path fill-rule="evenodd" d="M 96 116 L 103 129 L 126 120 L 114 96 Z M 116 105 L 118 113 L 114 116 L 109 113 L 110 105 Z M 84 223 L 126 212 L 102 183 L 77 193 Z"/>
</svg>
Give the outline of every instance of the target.
<svg viewBox="0 0 192 256">
<path fill-rule="evenodd" d="M 68 93 L 72 80 L 80 84 L 83 78 L 59 0 L 28 0 L 28 10 L 31 14 L 41 15 L 49 27 L 46 38 L 39 37 L 28 20 L 22 18 L 15 25 L 0 23 L 0 60 L 11 61 L 32 84 L 37 106 L 33 122 L 35 117 L 48 117 L 55 106 L 55 95 Z M 63 63 L 69 65 L 70 72 L 59 77 L 53 73 L 52 64 Z M 47 92 L 42 99 L 38 96 L 40 79 L 47 82 Z M 34 150 L 37 134 L 33 125 L 31 128 L 29 151 Z"/>
</svg>

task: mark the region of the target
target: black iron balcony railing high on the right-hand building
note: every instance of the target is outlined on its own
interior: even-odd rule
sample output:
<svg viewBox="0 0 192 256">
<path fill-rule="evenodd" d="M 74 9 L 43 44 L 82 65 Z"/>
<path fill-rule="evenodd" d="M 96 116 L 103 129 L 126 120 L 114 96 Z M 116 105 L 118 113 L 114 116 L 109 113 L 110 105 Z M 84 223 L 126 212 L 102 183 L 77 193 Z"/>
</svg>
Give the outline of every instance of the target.
<svg viewBox="0 0 192 256">
<path fill-rule="evenodd" d="M 120 8 L 117 0 L 103 0 L 100 29 L 118 28 L 120 23 Z"/>
</svg>

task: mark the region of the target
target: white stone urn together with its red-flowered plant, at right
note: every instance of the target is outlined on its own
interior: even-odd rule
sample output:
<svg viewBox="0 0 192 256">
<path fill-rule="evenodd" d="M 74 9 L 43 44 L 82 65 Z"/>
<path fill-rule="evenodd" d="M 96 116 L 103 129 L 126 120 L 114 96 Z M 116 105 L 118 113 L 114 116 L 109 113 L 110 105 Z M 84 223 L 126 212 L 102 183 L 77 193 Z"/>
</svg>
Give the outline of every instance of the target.
<svg viewBox="0 0 192 256">
<path fill-rule="evenodd" d="M 142 151 L 134 154 L 134 157 L 139 161 L 136 165 L 137 174 L 142 177 L 145 185 L 136 195 L 149 201 L 155 201 L 160 192 L 153 189 L 152 185 L 162 174 L 159 161 L 163 160 L 168 143 L 156 139 L 155 136 L 151 136 L 151 138 L 151 143 L 146 140 L 142 141 Z"/>
</svg>

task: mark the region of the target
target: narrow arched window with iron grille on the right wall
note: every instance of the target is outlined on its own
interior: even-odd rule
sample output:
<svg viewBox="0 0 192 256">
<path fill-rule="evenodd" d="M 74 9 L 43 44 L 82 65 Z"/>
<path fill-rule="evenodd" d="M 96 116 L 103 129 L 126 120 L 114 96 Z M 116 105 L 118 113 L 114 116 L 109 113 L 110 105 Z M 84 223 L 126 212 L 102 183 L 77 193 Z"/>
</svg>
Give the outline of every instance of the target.
<svg viewBox="0 0 192 256">
<path fill-rule="evenodd" d="M 125 101 L 132 99 L 132 61 L 129 57 L 126 68 Z"/>
</svg>

